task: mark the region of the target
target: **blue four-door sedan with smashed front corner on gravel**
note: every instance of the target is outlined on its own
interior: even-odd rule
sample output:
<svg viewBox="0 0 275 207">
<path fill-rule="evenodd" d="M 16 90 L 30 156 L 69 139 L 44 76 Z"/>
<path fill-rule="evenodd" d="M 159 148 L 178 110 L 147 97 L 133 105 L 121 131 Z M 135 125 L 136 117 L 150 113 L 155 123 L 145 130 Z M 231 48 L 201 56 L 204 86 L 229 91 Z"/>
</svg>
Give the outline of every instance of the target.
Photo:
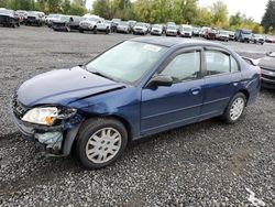
<svg viewBox="0 0 275 207">
<path fill-rule="evenodd" d="M 132 140 L 213 117 L 238 122 L 257 97 L 260 73 L 221 44 L 139 37 L 26 80 L 12 115 L 43 153 L 74 150 L 84 167 L 100 168 Z"/>
</svg>

